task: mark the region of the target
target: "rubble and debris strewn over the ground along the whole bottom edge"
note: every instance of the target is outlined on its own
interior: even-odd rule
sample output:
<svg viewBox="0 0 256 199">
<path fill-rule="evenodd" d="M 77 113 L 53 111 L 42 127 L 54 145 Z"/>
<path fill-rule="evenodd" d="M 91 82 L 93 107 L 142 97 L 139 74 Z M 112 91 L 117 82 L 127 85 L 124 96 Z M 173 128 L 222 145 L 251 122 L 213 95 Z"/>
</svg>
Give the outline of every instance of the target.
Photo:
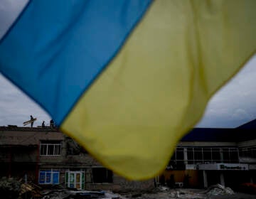
<svg viewBox="0 0 256 199">
<path fill-rule="evenodd" d="M 245 183 L 242 188 L 254 190 L 255 184 Z M 195 188 L 169 188 L 163 185 L 149 191 L 129 191 L 113 193 L 111 190 L 76 190 L 75 188 L 65 188 L 63 185 L 55 185 L 49 189 L 41 188 L 32 182 L 21 183 L 14 178 L 0 179 L 1 198 L 40 198 L 40 199 L 178 199 L 178 198 L 205 198 L 205 199 L 254 199 L 255 195 L 245 193 L 234 193 L 231 188 L 223 185 L 211 185 L 208 189 Z"/>
</svg>

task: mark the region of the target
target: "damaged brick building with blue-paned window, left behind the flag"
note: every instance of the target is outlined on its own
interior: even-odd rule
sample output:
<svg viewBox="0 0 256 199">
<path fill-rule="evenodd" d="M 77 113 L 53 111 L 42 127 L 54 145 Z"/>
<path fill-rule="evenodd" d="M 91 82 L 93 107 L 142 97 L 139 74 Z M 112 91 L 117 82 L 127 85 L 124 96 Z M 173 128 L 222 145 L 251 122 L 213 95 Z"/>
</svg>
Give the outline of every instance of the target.
<svg viewBox="0 0 256 199">
<path fill-rule="evenodd" d="M 78 190 L 149 190 L 154 180 L 127 181 L 103 167 L 57 128 L 0 127 L 0 176 L 41 187 Z"/>
</svg>

